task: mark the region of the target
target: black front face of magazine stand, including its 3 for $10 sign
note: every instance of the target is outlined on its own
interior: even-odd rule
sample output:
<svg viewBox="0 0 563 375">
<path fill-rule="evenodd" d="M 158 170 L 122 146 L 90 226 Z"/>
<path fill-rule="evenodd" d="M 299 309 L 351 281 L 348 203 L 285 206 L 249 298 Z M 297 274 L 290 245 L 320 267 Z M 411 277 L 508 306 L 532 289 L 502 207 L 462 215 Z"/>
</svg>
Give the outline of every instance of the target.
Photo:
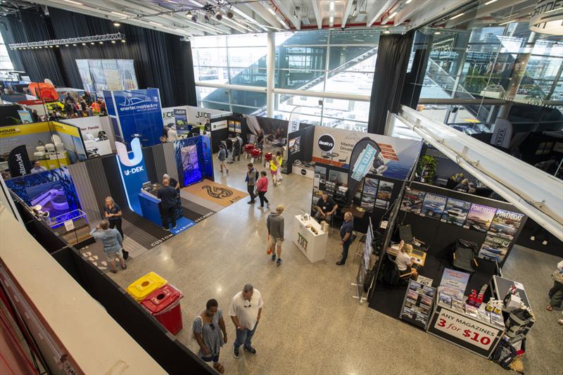
<svg viewBox="0 0 563 375">
<path fill-rule="evenodd" d="M 435 300 L 436 302 L 436 297 Z M 426 331 L 454 345 L 490 357 L 505 331 L 504 326 L 493 324 L 463 311 L 453 309 L 441 301 L 434 304 Z"/>
</svg>

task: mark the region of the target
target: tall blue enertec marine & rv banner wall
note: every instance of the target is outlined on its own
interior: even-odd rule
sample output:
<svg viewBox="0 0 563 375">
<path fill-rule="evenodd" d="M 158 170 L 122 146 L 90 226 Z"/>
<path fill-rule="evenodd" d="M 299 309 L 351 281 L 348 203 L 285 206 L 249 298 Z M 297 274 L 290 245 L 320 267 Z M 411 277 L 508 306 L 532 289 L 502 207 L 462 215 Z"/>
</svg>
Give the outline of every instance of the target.
<svg viewBox="0 0 563 375">
<path fill-rule="evenodd" d="M 160 143 L 164 124 L 158 89 L 111 91 L 111 101 L 115 103 L 123 143 L 129 146 L 134 138 L 144 147 Z"/>
</svg>

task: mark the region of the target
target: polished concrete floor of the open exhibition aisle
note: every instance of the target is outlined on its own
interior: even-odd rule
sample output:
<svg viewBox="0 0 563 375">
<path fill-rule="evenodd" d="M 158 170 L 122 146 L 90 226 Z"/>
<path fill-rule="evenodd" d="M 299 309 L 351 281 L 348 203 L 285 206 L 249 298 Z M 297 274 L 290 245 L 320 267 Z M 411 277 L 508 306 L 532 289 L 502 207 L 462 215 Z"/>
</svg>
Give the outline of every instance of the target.
<svg viewBox="0 0 563 375">
<path fill-rule="evenodd" d="M 229 174 L 217 168 L 217 182 L 245 191 L 246 161 L 229 165 Z M 263 168 L 260 168 L 262 170 Z M 228 341 L 220 361 L 226 374 L 487 374 L 505 373 L 498 364 L 431 336 L 409 324 L 358 304 L 351 283 L 359 258 L 350 250 L 344 267 L 339 260 L 338 234 L 329 237 L 327 260 L 311 265 L 291 243 L 292 218 L 308 210 L 312 179 L 286 176 L 267 196 L 272 207 L 286 206 L 284 264 L 276 267 L 265 254 L 268 210 L 241 200 L 217 212 L 179 236 L 129 262 L 127 271 L 110 274 L 122 287 L 154 271 L 184 292 L 184 329 L 178 334 L 191 349 L 191 322 L 216 298 L 224 311 Z M 355 244 L 351 249 L 355 249 Z M 538 322 L 529 334 L 524 363 L 526 374 L 560 373 L 563 326 L 561 312 L 547 312 L 550 274 L 557 258 L 515 248 L 505 277 L 526 286 Z M 262 319 L 253 339 L 258 356 L 232 356 L 234 326 L 228 317 L 232 296 L 246 283 L 265 300 Z"/>
</svg>

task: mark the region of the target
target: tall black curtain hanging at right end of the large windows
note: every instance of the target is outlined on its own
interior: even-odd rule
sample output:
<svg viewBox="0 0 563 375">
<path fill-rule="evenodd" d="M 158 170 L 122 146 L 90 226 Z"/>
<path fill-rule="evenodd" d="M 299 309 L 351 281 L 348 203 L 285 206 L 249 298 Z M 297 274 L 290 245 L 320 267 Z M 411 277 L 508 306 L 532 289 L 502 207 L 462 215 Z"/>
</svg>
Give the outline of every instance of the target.
<svg viewBox="0 0 563 375">
<path fill-rule="evenodd" d="M 379 39 L 372 100 L 369 103 L 368 133 L 384 134 L 387 111 L 396 113 L 399 109 L 414 34 L 384 34 Z"/>
</svg>

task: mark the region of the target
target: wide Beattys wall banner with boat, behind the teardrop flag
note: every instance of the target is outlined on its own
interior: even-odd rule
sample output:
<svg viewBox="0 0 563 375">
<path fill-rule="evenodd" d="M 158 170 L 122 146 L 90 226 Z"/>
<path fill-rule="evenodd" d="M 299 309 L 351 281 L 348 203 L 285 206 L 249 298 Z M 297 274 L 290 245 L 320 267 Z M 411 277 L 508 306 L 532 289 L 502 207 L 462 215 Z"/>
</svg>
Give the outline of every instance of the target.
<svg viewBox="0 0 563 375">
<path fill-rule="evenodd" d="M 385 165 L 380 173 L 382 176 L 396 179 L 409 176 L 419 157 L 422 141 L 317 126 L 313 137 L 312 161 L 348 168 L 355 144 L 365 136 L 375 141 L 381 149 Z"/>
</svg>

